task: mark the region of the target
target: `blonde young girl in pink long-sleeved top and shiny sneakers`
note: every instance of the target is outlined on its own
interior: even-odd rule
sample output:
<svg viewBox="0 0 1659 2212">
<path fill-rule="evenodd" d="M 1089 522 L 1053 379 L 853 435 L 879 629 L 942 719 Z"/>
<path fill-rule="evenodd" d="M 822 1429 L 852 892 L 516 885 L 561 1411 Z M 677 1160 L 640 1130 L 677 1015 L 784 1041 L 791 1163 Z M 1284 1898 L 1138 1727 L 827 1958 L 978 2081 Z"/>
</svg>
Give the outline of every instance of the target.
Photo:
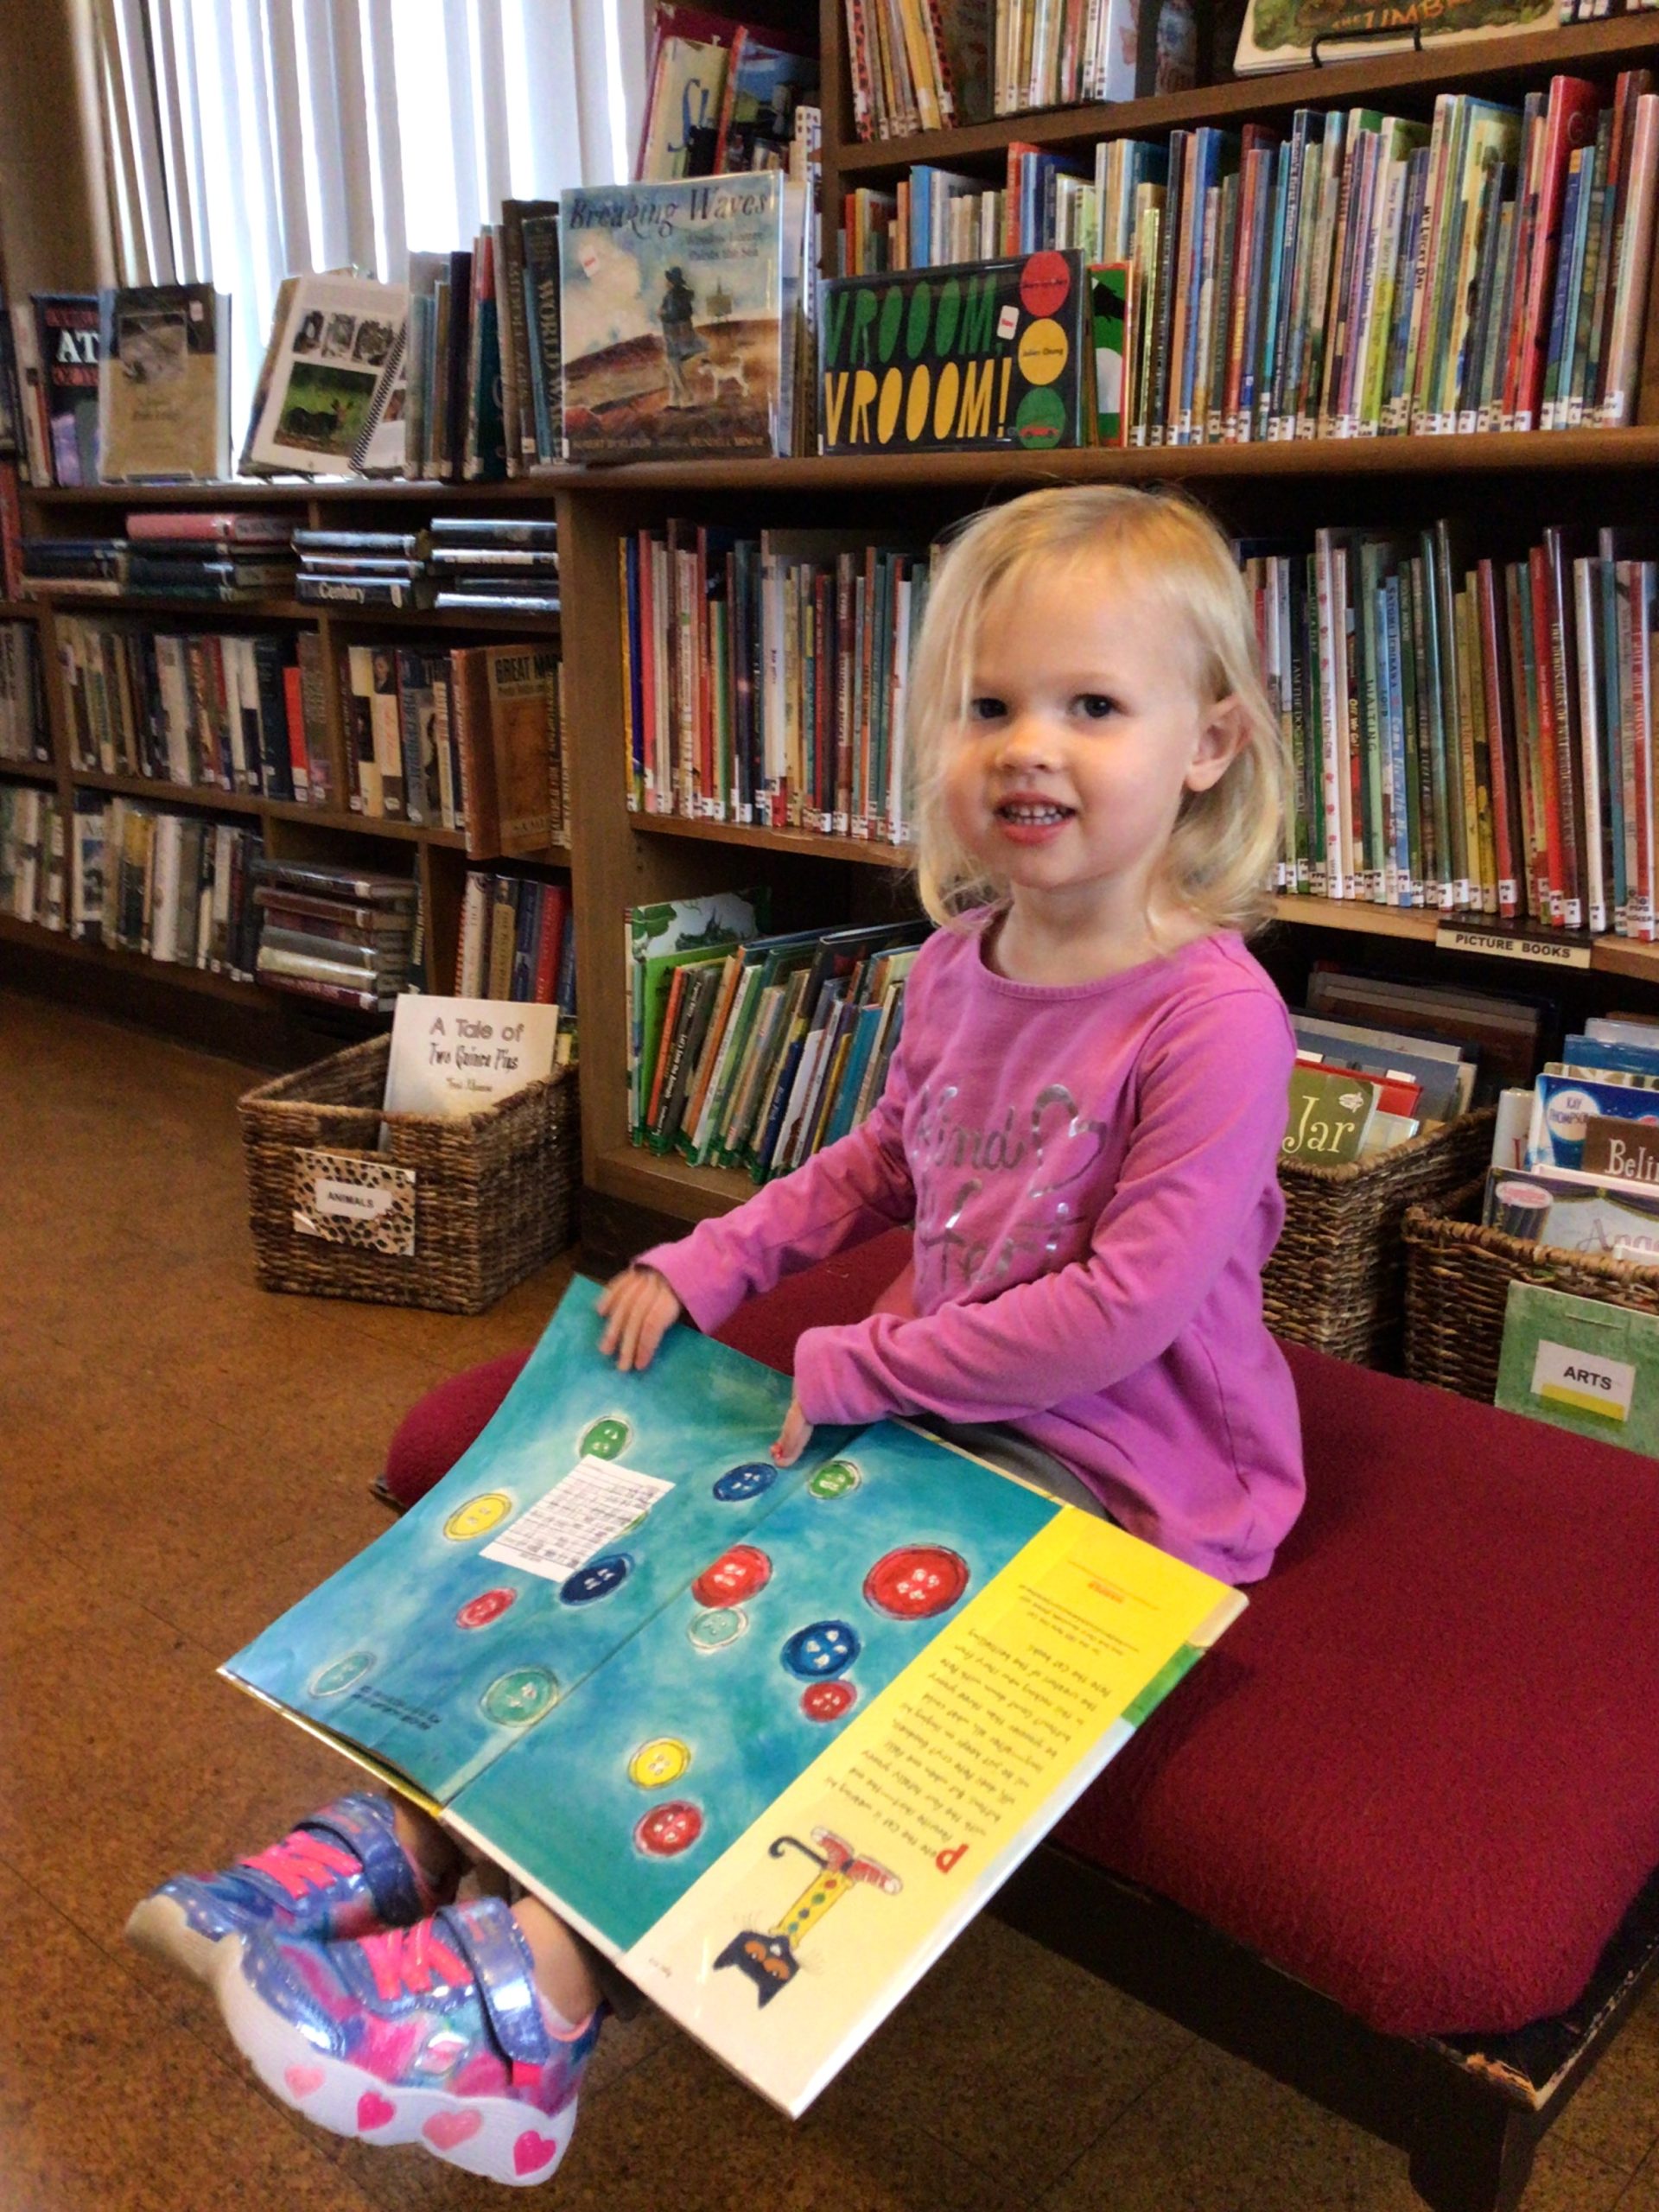
<svg viewBox="0 0 1659 2212">
<path fill-rule="evenodd" d="M 909 737 L 940 927 L 878 1106 L 619 1274 L 602 1347 L 648 1367 L 681 1314 L 717 1327 L 914 1221 L 876 1312 L 801 1336 L 774 1458 L 814 1422 L 905 1413 L 1252 1582 L 1303 1498 L 1261 1318 L 1294 1046 L 1237 933 L 1265 905 L 1283 754 L 1214 524 L 1082 487 L 978 515 L 929 599 Z M 535 2181 L 613 1984 L 531 1898 L 447 1902 L 458 1874 L 425 1814 L 352 1796 L 168 1882 L 133 1933 L 208 1975 L 265 2084 L 325 2126 Z"/>
</svg>

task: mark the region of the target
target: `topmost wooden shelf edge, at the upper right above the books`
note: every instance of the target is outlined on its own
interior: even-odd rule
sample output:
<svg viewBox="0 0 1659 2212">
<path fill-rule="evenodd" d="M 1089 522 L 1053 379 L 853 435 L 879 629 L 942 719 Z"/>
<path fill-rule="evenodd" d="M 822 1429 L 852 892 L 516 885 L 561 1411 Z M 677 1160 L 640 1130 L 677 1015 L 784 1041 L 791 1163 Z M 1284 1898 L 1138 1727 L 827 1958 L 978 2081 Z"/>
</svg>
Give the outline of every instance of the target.
<svg viewBox="0 0 1659 2212">
<path fill-rule="evenodd" d="M 1223 84 L 1199 84 L 1190 93 L 1155 100 L 1119 100 L 1110 106 L 1031 108 L 998 115 L 956 131 L 920 131 L 900 139 L 852 139 L 836 150 L 845 179 L 883 177 L 914 161 L 962 161 L 1004 153 L 1011 139 L 1026 146 L 1084 146 L 1106 137 L 1137 137 L 1192 124 L 1225 124 L 1232 117 L 1290 115 L 1292 108 L 1345 108 L 1356 100 L 1411 88 L 1469 91 L 1513 77 L 1571 66 L 1610 66 L 1652 55 L 1659 27 L 1646 13 L 1613 15 L 1601 22 L 1520 31 L 1460 44 L 1429 40 L 1422 53 L 1340 55 L 1321 69 L 1259 71 Z"/>
</svg>

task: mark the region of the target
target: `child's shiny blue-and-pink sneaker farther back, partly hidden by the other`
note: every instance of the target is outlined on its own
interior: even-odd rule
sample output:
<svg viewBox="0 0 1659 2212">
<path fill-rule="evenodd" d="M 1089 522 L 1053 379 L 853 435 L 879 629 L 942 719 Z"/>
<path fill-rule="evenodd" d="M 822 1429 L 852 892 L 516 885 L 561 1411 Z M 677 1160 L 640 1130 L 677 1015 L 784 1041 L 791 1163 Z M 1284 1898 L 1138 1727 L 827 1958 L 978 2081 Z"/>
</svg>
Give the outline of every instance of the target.
<svg viewBox="0 0 1659 2212">
<path fill-rule="evenodd" d="M 372 1936 L 411 1927 L 434 1905 L 425 1874 L 398 1843 L 392 1798 L 349 1792 L 223 1874 L 175 1874 L 133 1907 L 128 1942 L 199 1982 L 226 1936 Z"/>
</svg>

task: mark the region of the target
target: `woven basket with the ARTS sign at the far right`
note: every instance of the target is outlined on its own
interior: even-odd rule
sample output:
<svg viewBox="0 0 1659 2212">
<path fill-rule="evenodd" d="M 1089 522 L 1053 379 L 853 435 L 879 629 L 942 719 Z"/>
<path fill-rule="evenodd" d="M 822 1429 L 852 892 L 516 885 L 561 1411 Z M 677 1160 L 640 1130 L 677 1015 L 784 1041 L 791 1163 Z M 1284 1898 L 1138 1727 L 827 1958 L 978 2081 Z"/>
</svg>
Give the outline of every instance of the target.
<svg viewBox="0 0 1659 2212">
<path fill-rule="evenodd" d="M 1484 1190 L 1482 1177 L 1405 1217 L 1405 1371 L 1413 1383 L 1438 1383 L 1491 1405 L 1511 1283 L 1659 1314 L 1659 1265 L 1559 1252 L 1484 1230 Z"/>
</svg>

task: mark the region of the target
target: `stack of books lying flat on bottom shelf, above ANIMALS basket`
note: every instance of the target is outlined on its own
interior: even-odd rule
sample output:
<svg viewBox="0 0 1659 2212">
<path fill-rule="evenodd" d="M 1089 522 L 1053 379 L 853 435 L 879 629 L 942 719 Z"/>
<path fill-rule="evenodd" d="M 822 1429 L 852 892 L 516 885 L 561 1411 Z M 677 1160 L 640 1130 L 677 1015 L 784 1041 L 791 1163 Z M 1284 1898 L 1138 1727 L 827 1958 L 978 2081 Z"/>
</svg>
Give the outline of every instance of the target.
<svg viewBox="0 0 1659 2212">
<path fill-rule="evenodd" d="M 389 1013 L 409 980 L 416 887 L 407 876 L 261 860 L 259 980 L 354 1013 Z"/>
</svg>

